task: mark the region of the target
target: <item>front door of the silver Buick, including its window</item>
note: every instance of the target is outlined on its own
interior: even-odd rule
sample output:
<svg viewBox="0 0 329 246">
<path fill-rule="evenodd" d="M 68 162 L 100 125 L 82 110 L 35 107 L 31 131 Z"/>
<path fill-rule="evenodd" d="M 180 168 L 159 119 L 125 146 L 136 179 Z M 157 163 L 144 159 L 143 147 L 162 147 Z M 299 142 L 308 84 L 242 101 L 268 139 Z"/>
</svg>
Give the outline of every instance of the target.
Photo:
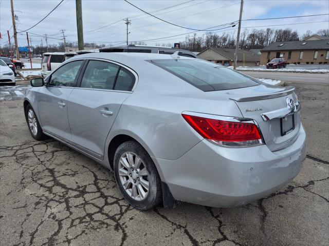
<svg viewBox="0 0 329 246">
<path fill-rule="evenodd" d="M 67 98 L 77 83 L 84 60 L 71 61 L 54 71 L 46 86 L 38 92 L 38 108 L 45 133 L 70 140 L 67 118 Z"/>
</svg>

